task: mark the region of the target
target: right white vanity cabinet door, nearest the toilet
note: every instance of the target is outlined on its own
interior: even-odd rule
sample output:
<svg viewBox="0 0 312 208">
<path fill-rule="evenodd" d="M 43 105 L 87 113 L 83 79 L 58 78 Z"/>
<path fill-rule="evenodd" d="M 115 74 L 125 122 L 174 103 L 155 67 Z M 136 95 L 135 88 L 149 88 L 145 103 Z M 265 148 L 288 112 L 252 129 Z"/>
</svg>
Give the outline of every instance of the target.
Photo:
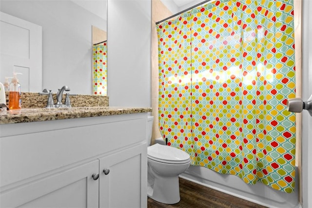
<svg viewBox="0 0 312 208">
<path fill-rule="evenodd" d="M 147 206 L 146 143 L 100 158 L 99 166 L 100 208 Z M 105 174 L 104 169 L 109 173 Z"/>
</svg>

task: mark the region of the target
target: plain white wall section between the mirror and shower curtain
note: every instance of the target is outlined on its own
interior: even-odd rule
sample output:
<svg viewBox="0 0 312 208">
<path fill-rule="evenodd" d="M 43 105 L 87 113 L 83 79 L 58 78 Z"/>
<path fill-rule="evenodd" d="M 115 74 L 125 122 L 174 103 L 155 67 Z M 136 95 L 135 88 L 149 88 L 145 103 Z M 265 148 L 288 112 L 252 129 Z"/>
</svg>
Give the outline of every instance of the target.
<svg viewBox="0 0 312 208">
<path fill-rule="evenodd" d="M 108 0 L 111 106 L 151 106 L 151 0 Z"/>
</svg>

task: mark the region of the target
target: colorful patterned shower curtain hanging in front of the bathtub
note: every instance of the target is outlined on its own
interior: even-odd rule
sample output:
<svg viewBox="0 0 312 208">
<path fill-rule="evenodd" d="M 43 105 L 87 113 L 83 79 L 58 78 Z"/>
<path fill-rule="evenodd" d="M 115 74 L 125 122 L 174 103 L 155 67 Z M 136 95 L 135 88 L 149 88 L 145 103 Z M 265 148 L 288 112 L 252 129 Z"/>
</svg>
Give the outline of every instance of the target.
<svg viewBox="0 0 312 208">
<path fill-rule="evenodd" d="M 217 0 L 157 25 L 159 128 L 192 165 L 292 192 L 292 0 Z"/>
</svg>

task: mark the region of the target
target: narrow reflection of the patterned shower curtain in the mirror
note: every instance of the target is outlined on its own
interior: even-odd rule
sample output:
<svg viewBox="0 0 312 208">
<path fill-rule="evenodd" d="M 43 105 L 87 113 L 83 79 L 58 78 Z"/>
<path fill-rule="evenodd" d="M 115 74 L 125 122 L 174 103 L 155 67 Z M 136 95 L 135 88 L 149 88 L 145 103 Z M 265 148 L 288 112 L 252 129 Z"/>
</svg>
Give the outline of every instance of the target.
<svg viewBox="0 0 312 208">
<path fill-rule="evenodd" d="M 93 95 L 107 95 L 107 42 L 93 46 Z"/>
</svg>

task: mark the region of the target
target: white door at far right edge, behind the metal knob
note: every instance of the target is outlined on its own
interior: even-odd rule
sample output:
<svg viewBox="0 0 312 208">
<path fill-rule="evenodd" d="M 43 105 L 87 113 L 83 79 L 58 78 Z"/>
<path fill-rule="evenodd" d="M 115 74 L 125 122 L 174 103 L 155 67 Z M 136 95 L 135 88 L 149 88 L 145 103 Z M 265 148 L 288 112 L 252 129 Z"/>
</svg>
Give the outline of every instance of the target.
<svg viewBox="0 0 312 208">
<path fill-rule="evenodd" d="M 302 2 L 302 99 L 312 94 L 312 2 Z M 302 207 L 312 207 L 312 117 L 302 112 Z"/>
</svg>

